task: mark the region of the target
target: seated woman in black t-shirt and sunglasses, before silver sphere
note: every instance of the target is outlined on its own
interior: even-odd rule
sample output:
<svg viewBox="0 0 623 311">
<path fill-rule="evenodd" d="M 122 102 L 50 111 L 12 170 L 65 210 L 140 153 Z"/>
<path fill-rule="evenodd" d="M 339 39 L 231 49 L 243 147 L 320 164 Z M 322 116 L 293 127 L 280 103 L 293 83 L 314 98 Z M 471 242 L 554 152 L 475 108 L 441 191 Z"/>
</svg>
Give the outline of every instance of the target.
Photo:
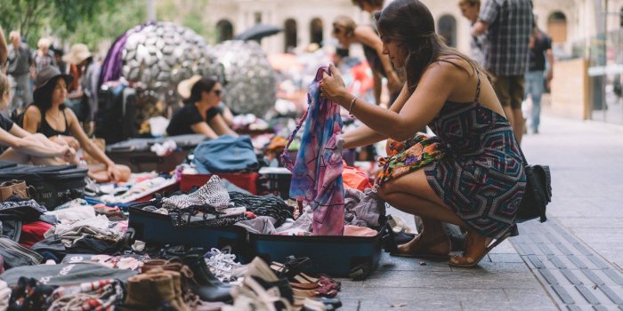
<svg viewBox="0 0 623 311">
<path fill-rule="evenodd" d="M 238 136 L 225 123 L 221 110 L 223 87 L 213 78 L 202 77 L 190 89 L 190 98 L 185 100 L 184 107 L 177 110 L 166 132 L 169 136 L 183 134 L 203 134 L 211 139 L 221 135 Z"/>
</svg>

